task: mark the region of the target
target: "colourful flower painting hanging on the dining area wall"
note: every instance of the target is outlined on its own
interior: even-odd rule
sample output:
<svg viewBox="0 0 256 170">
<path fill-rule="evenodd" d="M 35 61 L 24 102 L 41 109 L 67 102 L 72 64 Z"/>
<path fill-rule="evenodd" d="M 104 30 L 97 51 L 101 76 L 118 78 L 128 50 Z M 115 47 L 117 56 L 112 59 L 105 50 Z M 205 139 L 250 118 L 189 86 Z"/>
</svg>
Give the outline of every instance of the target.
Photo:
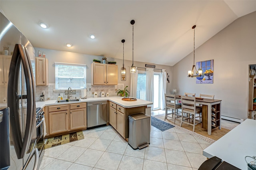
<svg viewBox="0 0 256 170">
<path fill-rule="evenodd" d="M 196 62 L 196 68 L 203 73 L 200 77 L 196 77 L 196 84 L 213 83 L 213 59 Z"/>
</svg>

